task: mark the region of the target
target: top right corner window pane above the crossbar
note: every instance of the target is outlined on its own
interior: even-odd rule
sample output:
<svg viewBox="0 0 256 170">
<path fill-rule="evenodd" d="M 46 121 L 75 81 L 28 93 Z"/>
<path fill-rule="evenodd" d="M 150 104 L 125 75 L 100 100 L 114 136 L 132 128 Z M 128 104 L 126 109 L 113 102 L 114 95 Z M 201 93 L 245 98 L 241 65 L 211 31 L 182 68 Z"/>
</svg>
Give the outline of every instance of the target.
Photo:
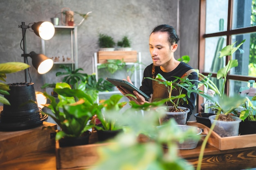
<svg viewBox="0 0 256 170">
<path fill-rule="evenodd" d="M 232 29 L 255 26 L 255 0 L 234 0 Z"/>
</svg>

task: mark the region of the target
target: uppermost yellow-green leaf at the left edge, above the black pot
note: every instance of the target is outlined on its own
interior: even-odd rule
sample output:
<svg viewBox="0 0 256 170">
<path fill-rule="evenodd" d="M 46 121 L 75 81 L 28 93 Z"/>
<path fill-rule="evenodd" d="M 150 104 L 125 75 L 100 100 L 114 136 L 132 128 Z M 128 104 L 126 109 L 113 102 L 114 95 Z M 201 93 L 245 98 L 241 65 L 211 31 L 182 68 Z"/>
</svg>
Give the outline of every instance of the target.
<svg viewBox="0 0 256 170">
<path fill-rule="evenodd" d="M 20 62 L 0 63 L 0 74 L 19 72 L 29 67 L 26 63 Z"/>
</svg>

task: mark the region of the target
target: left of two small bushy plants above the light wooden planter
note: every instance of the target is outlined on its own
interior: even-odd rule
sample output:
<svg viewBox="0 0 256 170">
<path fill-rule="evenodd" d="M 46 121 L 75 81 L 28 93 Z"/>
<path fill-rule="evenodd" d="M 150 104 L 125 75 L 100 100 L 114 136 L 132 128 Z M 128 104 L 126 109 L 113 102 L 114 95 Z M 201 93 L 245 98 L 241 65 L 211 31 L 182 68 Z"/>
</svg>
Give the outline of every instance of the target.
<svg viewBox="0 0 256 170">
<path fill-rule="evenodd" d="M 114 51 L 115 50 L 115 41 L 112 37 L 110 37 L 109 35 L 106 34 L 99 34 L 99 47 L 100 47 L 100 51 Z"/>
</svg>

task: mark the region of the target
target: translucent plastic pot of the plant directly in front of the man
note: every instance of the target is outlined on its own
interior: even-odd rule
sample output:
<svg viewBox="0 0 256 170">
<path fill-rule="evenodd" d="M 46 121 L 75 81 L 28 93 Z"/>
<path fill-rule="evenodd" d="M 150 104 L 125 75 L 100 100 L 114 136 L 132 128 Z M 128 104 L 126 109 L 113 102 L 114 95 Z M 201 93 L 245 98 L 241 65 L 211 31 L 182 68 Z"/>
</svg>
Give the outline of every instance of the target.
<svg viewBox="0 0 256 170">
<path fill-rule="evenodd" d="M 170 120 L 171 118 L 173 118 L 177 122 L 177 124 L 185 125 L 186 124 L 186 117 L 187 117 L 190 110 L 186 107 L 179 107 L 180 109 L 183 109 L 184 111 L 182 111 L 182 112 L 170 112 L 168 110 L 171 107 L 173 107 L 173 106 L 158 107 L 156 109 L 157 112 L 164 113 L 164 116 L 159 118 L 160 125 L 162 125 L 164 122 Z"/>
</svg>

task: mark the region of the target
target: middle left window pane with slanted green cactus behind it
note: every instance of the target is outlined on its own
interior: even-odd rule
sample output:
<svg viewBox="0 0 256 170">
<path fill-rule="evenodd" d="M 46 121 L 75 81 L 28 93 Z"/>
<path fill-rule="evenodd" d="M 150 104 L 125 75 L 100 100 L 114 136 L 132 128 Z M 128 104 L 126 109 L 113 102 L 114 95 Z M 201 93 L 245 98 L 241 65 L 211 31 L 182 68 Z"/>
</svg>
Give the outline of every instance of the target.
<svg viewBox="0 0 256 170">
<path fill-rule="evenodd" d="M 219 51 L 226 46 L 226 36 L 205 39 L 204 72 L 217 72 L 225 64 L 225 57 L 219 58 Z"/>
</svg>

